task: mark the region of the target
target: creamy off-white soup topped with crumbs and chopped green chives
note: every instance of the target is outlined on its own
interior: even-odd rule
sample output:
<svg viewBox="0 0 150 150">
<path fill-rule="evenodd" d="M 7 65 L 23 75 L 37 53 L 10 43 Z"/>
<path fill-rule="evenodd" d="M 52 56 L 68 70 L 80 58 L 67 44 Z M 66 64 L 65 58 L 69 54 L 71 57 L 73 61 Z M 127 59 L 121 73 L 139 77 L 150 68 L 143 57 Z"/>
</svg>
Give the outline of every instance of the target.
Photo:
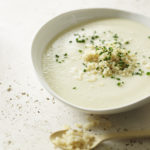
<svg viewBox="0 0 150 150">
<path fill-rule="evenodd" d="M 43 53 L 51 89 L 84 108 L 115 108 L 150 95 L 150 29 L 126 19 L 74 27 Z"/>
</svg>

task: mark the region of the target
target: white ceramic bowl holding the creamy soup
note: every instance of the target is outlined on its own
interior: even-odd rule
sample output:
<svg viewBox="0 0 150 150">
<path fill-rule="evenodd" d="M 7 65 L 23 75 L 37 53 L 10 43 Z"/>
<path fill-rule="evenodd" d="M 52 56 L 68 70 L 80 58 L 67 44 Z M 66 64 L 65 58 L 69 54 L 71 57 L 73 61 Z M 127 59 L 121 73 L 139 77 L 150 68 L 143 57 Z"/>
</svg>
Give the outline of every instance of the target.
<svg viewBox="0 0 150 150">
<path fill-rule="evenodd" d="M 77 108 L 78 110 L 87 112 L 87 113 L 94 113 L 94 114 L 112 114 L 112 113 L 118 113 L 127 111 L 133 108 L 136 108 L 138 106 L 141 106 L 143 104 L 146 104 L 150 101 L 149 97 L 141 100 L 137 100 L 134 103 L 123 105 L 121 107 L 116 107 L 113 109 L 88 109 L 83 108 L 80 106 L 76 106 L 74 104 L 69 103 L 57 93 L 55 93 L 50 85 L 47 84 L 43 77 L 42 73 L 42 65 L 41 65 L 41 58 L 42 53 L 45 47 L 47 46 L 48 42 L 51 41 L 56 35 L 58 35 L 60 32 L 64 31 L 65 29 L 80 24 L 85 21 L 89 20 L 95 20 L 95 19 L 101 19 L 101 18 L 127 18 L 130 20 L 135 20 L 137 22 L 141 22 L 147 26 L 150 26 L 150 19 L 134 14 L 131 12 L 121 11 L 121 10 L 115 10 L 115 9 L 107 9 L 107 8 L 93 8 L 93 9 L 81 9 L 81 10 L 74 10 L 67 13 L 64 13 L 62 15 L 59 15 L 52 20 L 50 20 L 48 23 L 46 23 L 36 34 L 33 44 L 32 44 L 32 61 L 35 68 L 35 71 L 39 77 L 40 82 L 42 85 L 47 89 L 47 91 L 53 95 L 58 100 L 64 102 L 65 104 L 68 104 L 74 108 Z"/>
</svg>

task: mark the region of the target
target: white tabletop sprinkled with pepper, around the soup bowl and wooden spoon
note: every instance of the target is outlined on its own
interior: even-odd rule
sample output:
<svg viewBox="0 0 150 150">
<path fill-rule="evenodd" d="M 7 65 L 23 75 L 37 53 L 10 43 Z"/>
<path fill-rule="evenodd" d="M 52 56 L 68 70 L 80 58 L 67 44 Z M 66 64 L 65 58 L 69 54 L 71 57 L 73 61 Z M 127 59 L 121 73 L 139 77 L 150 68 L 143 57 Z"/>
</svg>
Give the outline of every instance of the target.
<svg viewBox="0 0 150 150">
<path fill-rule="evenodd" d="M 0 0 L 0 150 L 53 150 L 51 132 L 87 120 L 88 115 L 53 100 L 43 89 L 30 55 L 33 37 L 45 22 L 69 10 L 92 7 L 150 16 L 149 0 Z M 111 130 L 150 129 L 149 114 L 150 104 L 108 116 Z M 150 150 L 150 140 L 106 142 L 101 150 L 106 149 Z"/>
</svg>

